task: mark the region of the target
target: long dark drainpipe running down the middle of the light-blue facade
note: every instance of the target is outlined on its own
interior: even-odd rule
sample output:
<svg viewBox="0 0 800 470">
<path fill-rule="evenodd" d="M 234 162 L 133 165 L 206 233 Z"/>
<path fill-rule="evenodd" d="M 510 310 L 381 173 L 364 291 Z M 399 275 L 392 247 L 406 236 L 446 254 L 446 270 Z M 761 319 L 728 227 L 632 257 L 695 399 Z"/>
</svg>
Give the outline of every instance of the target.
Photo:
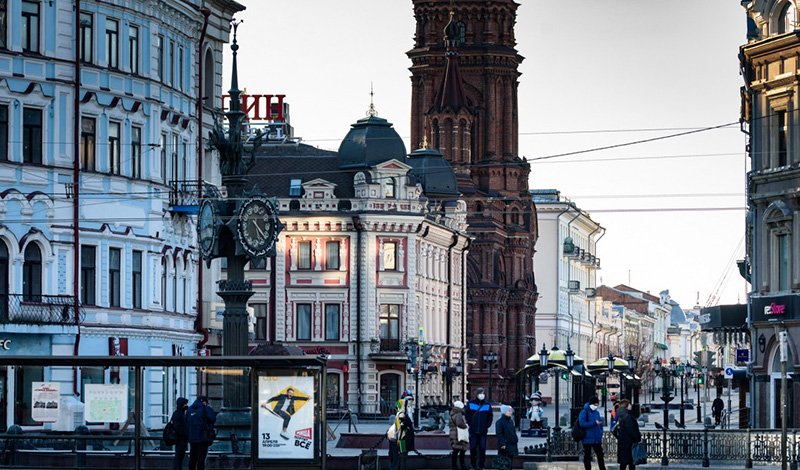
<svg viewBox="0 0 800 470">
<path fill-rule="evenodd" d="M 74 298 L 73 310 L 75 311 L 75 326 L 78 332 L 75 334 L 75 346 L 72 350 L 72 355 L 77 356 L 81 344 L 81 322 L 80 322 L 80 286 L 78 280 L 80 279 L 80 227 L 78 225 L 80 219 L 80 182 L 81 182 L 81 2 L 75 2 L 75 112 L 73 119 L 75 119 L 72 135 L 72 238 L 74 242 L 73 259 L 72 259 L 72 295 Z M 75 396 L 80 396 L 78 387 L 78 368 L 72 368 L 72 393 Z"/>
</svg>

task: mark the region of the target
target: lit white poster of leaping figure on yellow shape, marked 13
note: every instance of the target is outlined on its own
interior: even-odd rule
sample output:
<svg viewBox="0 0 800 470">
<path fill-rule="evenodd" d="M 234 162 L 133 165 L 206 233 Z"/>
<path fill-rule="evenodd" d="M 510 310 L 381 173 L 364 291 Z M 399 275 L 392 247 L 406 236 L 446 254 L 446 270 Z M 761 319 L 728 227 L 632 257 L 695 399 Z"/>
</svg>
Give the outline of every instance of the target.
<svg viewBox="0 0 800 470">
<path fill-rule="evenodd" d="M 314 459 L 314 377 L 258 377 L 258 458 Z"/>
</svg>

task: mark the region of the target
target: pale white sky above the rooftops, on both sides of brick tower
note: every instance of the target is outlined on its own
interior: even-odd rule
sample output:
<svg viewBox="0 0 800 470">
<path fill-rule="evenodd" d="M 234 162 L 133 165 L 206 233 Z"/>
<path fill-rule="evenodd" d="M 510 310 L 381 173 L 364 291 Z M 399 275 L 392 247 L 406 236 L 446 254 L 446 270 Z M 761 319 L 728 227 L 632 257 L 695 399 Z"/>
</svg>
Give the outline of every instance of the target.
<svg viewBox="0 0 800 470">
<path fill-rule="evenodd" d="M 411 0 L 242 3 L 240 86 L 250 94 L 285 94 L 295 135 L 337 149 L 350 124 L 365 115 L 374 83 L 379 115 L 394 123 L 411 150 L 405 55 L 415 30 Z M 738 121 L 737 54 L 746 25 L 737 2 L 520 3 L 521 156 L 532 160 Z M 226 49 L 225 90 L 229 74 Z M 608 130 L 620 132 L 585 132 Z M 744 210 L 697 210 L 746 206 L 744 149 L 737 124 L 532 161 L 530 187 L 559 189 L 607 229 L 597 250 L 598 284 L 600 278 L 628 284 L 630 276 L 633 287 L 653 294 L 669 289 L 690 308 L 698 292 L 705 305 L 726 278 L 715 303 L 744 302 L 748 286 L 729 264 L 744 257 Z M 663 156 L 673 158 L 647 159 Z M 652 211 L 674 208 L 693 210 Z"/>
</svg>

